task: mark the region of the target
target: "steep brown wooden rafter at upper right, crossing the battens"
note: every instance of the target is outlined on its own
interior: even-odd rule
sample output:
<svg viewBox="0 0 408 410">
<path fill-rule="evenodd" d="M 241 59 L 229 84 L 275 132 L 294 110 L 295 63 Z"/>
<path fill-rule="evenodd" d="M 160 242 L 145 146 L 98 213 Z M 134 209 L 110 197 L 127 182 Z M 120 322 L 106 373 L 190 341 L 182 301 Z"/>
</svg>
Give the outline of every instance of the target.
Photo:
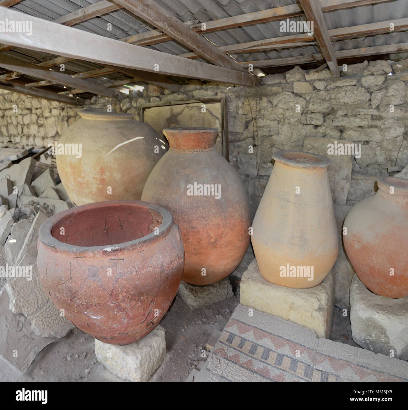
<svg viewBox="0 0 408 410">
<path fill-rule="evenodd" d="M 334 53 L 329 31 L 323 18 L 323 12 L 318 0 L 300 0 L 308 21 L 313 22 L 314 36 L 322 50 L 329 70 L 333 77 L 340 77 L 339 66 Z"/>
</svg>

